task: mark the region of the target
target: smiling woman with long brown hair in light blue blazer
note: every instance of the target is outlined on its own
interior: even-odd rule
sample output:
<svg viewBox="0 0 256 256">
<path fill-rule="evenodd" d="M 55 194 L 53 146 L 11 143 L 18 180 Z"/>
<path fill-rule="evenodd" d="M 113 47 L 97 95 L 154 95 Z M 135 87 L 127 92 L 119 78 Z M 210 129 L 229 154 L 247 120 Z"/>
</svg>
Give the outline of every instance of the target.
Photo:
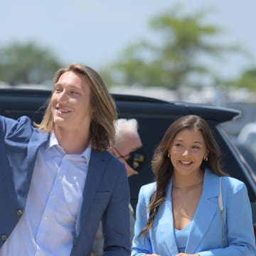
<svg viewBox="0 0 256 256">
<path fill-rule="evenodd" d="M 132 255 L 256 255 L 245 184 L 228 177 L 207 122 L 177 119 L 154 152 L 156 182 L 142 186 Z"/>
</svg>

